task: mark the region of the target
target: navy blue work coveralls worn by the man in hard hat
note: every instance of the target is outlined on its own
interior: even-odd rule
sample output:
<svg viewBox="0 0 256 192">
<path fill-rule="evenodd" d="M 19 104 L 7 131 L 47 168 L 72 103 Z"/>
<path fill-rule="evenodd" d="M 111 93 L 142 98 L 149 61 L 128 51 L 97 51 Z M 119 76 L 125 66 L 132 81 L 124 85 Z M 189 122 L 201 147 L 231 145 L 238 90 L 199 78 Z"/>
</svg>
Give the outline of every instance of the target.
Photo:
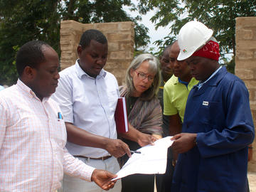
<svg viewBox="0 0 256 192">
<path fill-rule="evenodd" d="M 182 132 L 197 145 L 178 156 L 171 192 L 245 192 L 247 145 L 254 139 L 244 82 L 221 68 L 188 95 Z"/>
</svg>

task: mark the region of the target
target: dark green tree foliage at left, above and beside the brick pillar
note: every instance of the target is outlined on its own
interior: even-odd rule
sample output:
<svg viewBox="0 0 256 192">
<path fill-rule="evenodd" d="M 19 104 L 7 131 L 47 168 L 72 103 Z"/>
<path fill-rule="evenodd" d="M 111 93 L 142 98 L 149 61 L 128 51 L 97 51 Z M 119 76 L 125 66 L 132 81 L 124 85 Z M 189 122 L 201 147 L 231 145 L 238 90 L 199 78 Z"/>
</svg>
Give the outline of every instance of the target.
<svg viewBox="0 0 256 192">
<path fill-rule="evenodd" d="M 0 0 L 0 84 L 17 80 L 15 56 L 18 48 L 31 40 L 46 41 L 60 54 L 60 21 L 81 23 L 133 21 L 135 46 L 149 43 L 148 28 L 122 9 L 131 0 Z"/>
</svg>

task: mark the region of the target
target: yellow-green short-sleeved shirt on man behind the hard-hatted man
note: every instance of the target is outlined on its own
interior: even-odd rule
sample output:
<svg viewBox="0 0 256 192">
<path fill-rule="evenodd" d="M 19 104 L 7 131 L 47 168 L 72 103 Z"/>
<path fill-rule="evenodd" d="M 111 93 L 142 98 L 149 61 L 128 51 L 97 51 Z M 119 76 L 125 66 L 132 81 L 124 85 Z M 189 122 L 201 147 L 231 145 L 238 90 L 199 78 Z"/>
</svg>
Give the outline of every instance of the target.
<svg viewBox="0 0 256 192">
<path fill-rule="evenodd" d="M 172 75 L 164 85 L 164 114 L 178 114 L 181 117 L 181 122 L 183 122 L 188 94 L 196 84 L 198 84 L 198 80 L 191 78 L 188 87 L 186 87 L 178 81 L 177 77 Z"/>
</svg>

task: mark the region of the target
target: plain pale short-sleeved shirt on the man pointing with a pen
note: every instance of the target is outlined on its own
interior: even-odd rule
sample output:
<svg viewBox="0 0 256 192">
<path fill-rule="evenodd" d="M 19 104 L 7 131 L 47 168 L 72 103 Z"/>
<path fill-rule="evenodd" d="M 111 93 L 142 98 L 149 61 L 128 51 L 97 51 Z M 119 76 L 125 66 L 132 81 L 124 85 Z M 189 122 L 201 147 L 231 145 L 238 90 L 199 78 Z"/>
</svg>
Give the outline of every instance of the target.
<svg viewBox="0 0 256 192">
<path fill-rule="evenodd" d="M 102 137 L 117 139 L 114 111 L 119 96 L 116 78 L 101 70 L 96 78 L 87 75 L 78 60 L 60 72 L 53 99 L 60 105 L 65 122 Z M 105 149 L 67 142 L 70 154 L 98 158 L 110 155 Z"/>
</svg>

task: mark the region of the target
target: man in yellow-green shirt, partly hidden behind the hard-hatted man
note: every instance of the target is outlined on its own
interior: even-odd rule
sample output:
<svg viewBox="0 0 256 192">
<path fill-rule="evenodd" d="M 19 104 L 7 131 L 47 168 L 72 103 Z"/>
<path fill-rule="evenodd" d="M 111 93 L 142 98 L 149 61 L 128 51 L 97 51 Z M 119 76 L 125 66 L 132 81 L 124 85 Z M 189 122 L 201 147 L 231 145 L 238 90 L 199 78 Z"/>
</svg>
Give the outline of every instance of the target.
<svg viewBox="0 0 256 192">
<path fill-rule="evenodd" d="M 176 41 L 170 49 L 169 58 L 174 75 L 164 85 L 164 114 L 169 116 L 169 132 L 171 136 L 181 133 L 186 100 L 193 85 L 198 80 L 192 78 L 188 63 L 177 60 L 180 48 Z M 174 162 L 178 154 L 174 154 Z"/>
</svg>

